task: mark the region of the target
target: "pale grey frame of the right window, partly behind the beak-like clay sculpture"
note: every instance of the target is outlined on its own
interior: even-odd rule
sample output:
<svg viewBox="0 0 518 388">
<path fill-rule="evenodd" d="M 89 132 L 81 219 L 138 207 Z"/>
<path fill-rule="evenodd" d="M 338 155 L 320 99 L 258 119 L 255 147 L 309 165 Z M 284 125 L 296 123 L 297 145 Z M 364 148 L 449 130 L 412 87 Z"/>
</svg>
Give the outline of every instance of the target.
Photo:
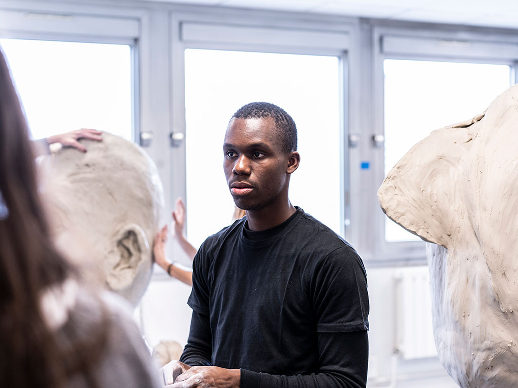
<svg viewBox="0 0 518 388">
<path fill-rule="evenodd" d="M 475 29 L 476 30 L 476 29 Z M 449 31 L 412 28 L 373 28 L 373 111 L 374 131 L 371 136 L 384 136 L 384 82 L 383 61 L 385 59 L 408 59 L 440 62 L 463 62 L 507 65 L 511 68 L 511 84 L 518 74 L 518 38 L 514 35 L 487 34 L 477 31 L 463 31 L 462 28 Z M 384 147 L 372 147 L 372 162 L 375 174 L 372 187 L 377 190 L 385 177 Z M 372 233 L 375 245 L 370 258 L 371 264 L 380 265 L 422 265 L 426 264 L 425 243 L 385 241 L 385 215 L 376 204 L 373 213 Z"/>
</svg>

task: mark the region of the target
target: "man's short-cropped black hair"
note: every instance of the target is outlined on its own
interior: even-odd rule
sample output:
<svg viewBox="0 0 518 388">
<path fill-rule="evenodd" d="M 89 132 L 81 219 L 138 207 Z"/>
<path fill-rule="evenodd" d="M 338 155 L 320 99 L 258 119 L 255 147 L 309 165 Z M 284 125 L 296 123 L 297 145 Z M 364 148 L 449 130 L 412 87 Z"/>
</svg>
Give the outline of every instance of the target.
<svg viewBox="0 0 518 388">
<path fill-rule="evenodd" d="M 282 141 L 284 152 L 297 151 L 297 126 L 287 112 L 269 102 L 250 102 L 239 108 L 233 118 L 271 117 Z"/>
</svg>

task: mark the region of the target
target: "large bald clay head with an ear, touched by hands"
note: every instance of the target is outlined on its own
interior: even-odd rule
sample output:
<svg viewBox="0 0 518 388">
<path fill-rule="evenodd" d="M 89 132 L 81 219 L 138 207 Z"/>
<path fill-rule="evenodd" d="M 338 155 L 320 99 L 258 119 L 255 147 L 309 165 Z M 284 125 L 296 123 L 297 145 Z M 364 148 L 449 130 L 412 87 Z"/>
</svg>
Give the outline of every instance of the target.
<svg viewBox="0 0 518 388">
<path fill-rule="evenodd" d="M 48 161 L 44 186 L 56 243 L 92 264 L 87 277 L 136 306 L 151 277 L 163 211 L 159 174 L 138 145 L 118 136 L 104 132 L 102 142 L 81 143 L 88 152 L 63 148 Z"/>
</svg>

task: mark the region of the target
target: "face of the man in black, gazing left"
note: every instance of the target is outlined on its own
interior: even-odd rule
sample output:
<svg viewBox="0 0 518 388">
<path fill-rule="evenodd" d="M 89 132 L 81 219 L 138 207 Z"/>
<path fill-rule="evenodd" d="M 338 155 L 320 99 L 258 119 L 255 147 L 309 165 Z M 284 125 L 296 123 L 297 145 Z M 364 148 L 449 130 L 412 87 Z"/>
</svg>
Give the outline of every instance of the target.
<svg viewBox="0 0 518 388">
<path fill-rule="evenodd" d="M 233 118 L 228 124 L 223 168 L 238 207 L 254 211 L 287 201 L 292 153 L 282 148 L 271 117 Z"/>
</svg>

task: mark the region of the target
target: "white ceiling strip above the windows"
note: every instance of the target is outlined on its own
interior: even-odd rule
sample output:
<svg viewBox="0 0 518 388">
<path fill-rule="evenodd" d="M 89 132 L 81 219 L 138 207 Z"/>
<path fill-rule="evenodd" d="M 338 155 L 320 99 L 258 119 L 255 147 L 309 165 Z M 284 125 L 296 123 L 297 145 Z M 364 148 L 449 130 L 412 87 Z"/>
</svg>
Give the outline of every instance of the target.
<svg viewBox="0 0 518 388">
<path fill-rule="evenodd" d="M 365 18 L 518 28 L 518 0 L 152 0 Z"/>
</svg>

